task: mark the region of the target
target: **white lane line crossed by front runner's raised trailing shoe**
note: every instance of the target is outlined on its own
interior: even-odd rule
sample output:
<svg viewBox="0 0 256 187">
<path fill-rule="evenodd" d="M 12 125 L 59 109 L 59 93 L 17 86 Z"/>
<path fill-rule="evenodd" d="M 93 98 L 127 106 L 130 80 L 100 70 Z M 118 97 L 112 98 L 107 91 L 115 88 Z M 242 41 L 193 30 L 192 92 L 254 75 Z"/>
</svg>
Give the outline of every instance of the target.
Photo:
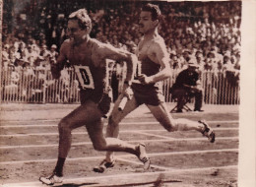
<svg viewBox="0 0 256 187">
<path fill-rule="evenodd" d="M 211 154 L 211 153 L 224 153 L 224 152 L 238 153 L 238 149 L 167 152 L 167 153 L 148 154 L 148 156 L 177 156 L 177 155 Z M 134 156 L 134 155 L 119 155 L 116 157 L 118 158 L 118 157 L 136 157 L 136 156 Z M 104 158 L 104 156 L 68 157 L 67 160 L 77 161 L 77 160 L 88 160 L 88 159 L 99 159 L 99 158 Z M 31 163 L 31 162 L 48 162 L 48 161 L 56 161 L 56 158 L 54 158 L 54 159 L 31 159 L 31 160 L 19 160 L 19 161 L 16 161 L 16 160 L 0 161 L 0 165 L 2 165 L 2 164 L 17 164 L 17 163 Z"/>
</svg>

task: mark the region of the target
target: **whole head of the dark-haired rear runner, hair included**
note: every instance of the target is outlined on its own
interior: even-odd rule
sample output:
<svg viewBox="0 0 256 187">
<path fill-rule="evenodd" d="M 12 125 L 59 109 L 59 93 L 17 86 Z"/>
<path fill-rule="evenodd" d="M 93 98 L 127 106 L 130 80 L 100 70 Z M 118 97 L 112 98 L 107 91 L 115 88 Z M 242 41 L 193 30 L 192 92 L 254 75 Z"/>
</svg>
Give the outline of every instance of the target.
<svg viewBox="0 0 256 187">
<path fill-rule="evenodd" d="M 151 3 L 146 4 L 139 18 L 139 29 L 143 33 L 155 30 L 160 24 L 160 8 Z"/>
</svg>

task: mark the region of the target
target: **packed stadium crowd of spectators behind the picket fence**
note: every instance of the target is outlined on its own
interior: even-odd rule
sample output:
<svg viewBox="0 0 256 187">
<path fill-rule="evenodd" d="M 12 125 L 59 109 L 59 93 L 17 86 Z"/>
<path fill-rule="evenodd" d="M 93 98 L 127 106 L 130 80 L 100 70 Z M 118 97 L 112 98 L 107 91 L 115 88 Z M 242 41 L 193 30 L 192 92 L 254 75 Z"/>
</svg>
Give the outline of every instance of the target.
<svg viewBox="0 0 256 187">
<path fill-rule="evenodd" d="M 65 23 L 72 11 L 86 7 L 93 18 L 92 37 L 134 52 L 141 37 L 136 1 L 28 1 L 13 18 L 12 0 L 4 3 L 2 66 L 49 68 L 68 37 Z M 189 61 L 200 70 L 224 71 L 239 79 L 241 2 L 158 2 L 160 35 L 173 69 Z M 6 14 L 5 14 L 6 13 Z"/>
</svg>

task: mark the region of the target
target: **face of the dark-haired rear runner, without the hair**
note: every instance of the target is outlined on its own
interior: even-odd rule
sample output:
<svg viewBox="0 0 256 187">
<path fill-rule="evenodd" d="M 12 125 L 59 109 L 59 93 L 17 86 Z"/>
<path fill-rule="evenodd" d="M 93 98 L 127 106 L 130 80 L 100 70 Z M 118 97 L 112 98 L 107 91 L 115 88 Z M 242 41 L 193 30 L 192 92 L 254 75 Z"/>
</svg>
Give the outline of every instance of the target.
<svg viewBox="0 0 256 187">
<path fill-rule="evenodd" d="M 158 20 L 152 20 L 151 12 L 142 11 L 139 18 L 139 31 L 142 33 L 153 31 L 158 26 L 158 22 Z"/>
</svg>

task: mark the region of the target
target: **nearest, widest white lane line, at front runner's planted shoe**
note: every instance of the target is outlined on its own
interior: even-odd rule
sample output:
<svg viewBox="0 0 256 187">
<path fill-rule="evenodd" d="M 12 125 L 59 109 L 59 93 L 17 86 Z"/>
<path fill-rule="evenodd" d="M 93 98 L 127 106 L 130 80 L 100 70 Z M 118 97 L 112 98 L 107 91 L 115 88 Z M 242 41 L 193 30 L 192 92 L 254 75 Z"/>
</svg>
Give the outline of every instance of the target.
<svg viewBox="0 0 256 187">
<path fill-rule="evenodd" d="M 217 169 L 238 169 L 237 165 L 224 165 L 224 166 L 212 166 L 212 167 L 200 167 L 200 168 L 183 168 L 183 169 L 175 169 L 172 168 L 171 170 L 165 171 L 154 171 L 154 172 L 138 172 L 138 173 L 125 173 L 125 174 L 113 174 L 113 175 L 98 175 L 98 176 L 90 176 L 90 177 L 72 177 L 72 178 L 65 178 L 63 183 L 74 183 L 80 184 L 83 182 L 93 183 L 96 182 L 96 185 L 100 185 L 100 179 L 108 179 L 114 180 L 118 178 L 126 178 L 127 180 L 131 180 L 134 177 L 142 177 L 148 176 L 147 178 L 156 179 L 160 174 L 182 174 L 187 172 L 197 172 L 197 171 L 211 171 Z M 129 179 L 130 178 L 130 179 Z M 147 181 L 145 181 L 147 182 Z M 153 181 L 154 182 L 154 181 Z M 34 187 L 34 186 L 45 186 L 42 185 L 39 181 L 32 181 L 32 182 L 20 182 L 20 183 L 7 183 L 3 184 L 3 187 Z M 93 185 L 94 186 L 94 185 Z"/>
</svg>

